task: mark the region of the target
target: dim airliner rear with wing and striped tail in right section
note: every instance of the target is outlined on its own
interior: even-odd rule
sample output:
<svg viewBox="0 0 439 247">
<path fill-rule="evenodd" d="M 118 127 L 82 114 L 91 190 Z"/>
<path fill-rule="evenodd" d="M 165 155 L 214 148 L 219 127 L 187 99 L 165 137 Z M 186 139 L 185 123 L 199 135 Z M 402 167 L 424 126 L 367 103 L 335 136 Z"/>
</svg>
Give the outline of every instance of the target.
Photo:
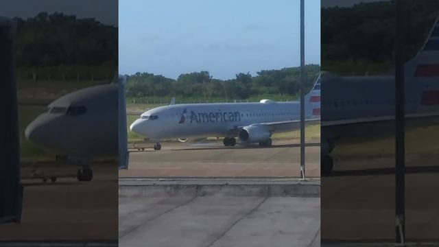
<svg viewBox="0 0 439 247">
<path fill-rule="evenodd" d="M 434 124 L 439 116 L 439 23 L 405 63 L 405 118 Z M 394 75 L 322 74 L 322 173 L 333 169 L 337 141 L 394 133 Z M 368 131 L 364 131 L 368 130 Z"/>
</svg>

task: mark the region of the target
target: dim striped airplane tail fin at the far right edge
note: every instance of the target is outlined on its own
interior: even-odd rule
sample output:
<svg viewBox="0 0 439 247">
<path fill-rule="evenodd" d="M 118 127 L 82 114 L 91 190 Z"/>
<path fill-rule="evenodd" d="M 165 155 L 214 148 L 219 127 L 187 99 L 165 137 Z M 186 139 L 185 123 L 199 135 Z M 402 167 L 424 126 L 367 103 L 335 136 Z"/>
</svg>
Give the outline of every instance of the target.
<svg viewBox="0 0 439 247">
<path fill-rule="evenodd" d="M 414 78 L 439 77 L 439 16 L 418 54 L 405 64 L 405 73 Z"/>
</svg>

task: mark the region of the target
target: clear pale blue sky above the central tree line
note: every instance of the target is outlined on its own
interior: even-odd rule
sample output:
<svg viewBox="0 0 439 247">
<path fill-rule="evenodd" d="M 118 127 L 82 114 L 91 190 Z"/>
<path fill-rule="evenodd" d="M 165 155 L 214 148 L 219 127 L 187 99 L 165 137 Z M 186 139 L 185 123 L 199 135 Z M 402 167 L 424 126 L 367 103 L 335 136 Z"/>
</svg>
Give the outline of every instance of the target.
<svg viewBox="0 0 439 247">
<path fill-rule="evenodd" d="M 300 65 L 299 0 L 119 1 L 119 73 L 178 78 Z M 305 1 L 305 62 L 320 64 L 320 0 Z"/>
</svg>

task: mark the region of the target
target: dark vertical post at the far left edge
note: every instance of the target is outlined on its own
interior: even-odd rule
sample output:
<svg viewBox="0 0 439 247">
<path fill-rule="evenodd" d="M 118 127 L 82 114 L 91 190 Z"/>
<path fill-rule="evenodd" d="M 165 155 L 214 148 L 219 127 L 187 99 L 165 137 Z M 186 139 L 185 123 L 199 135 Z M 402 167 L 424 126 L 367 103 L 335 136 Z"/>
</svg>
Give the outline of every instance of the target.
<svg viewBox="0 0 439 247">
<path fill-rule="evenodd" d="M 0 19 L 0 223 L 20 222 L 19 118 L 15 78 L 16 21 Z"/>
</svg>

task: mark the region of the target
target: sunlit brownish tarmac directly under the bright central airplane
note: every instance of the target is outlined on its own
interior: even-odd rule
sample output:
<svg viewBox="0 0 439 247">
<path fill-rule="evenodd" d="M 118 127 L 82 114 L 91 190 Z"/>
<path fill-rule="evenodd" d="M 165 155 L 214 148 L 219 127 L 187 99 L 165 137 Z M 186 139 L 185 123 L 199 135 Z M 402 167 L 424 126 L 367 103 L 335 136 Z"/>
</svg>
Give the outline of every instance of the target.
<svg viewBox="0 0 439 247">
<path fill-rule="evenodd" d="M 320 143 L 306 148 L 308 177 L 320 177 Z M 299 177 L 297 140 L 274 140 L 272 148 L 258 145 L 224 147 L 208 143 L 162 143 L 162 150 L 131 150 L 129 167 L 119 177 Z"/>
</svg>

